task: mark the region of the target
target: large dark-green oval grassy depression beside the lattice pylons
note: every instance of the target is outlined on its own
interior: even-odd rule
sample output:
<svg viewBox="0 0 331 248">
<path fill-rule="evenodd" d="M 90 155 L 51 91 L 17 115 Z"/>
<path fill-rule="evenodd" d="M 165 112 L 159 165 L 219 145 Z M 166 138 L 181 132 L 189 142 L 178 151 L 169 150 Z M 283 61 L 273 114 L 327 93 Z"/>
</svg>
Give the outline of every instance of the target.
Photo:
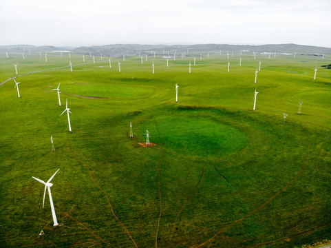
<svg viewBox="0 0 331 248">
<path fill-rule="evenodd" d="M 244 148 L 244 132 L 206 117 L 159 115 L 142 124 L 140 134 L 149 130 L 149 141 L 179 154 L 225 156 Z"/>
</svg>

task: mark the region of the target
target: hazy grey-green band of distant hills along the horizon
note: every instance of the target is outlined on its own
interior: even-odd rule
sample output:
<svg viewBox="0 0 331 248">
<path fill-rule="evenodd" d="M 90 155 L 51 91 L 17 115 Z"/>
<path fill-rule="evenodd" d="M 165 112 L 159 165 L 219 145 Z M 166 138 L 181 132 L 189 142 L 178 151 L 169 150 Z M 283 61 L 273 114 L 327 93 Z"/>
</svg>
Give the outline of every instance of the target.
<svg viewBox="0 0 331 248">
<path fill-rule="evenodd" d="M 98 45 L 98 46 L 35 46 L 35 45 L 1 45 L 0 51 L 6 52 L 10 48 L 11 53 L 15 52 L 52 52 L 56 50 L 72 51 L 81 54 L 103 54 L 104 56 L 122 56 L 123 54 L 138 55 L 140 52 L 160 52 L 173 54 L 175 50 L 178 53 L 187 52 L 217 52 L 226 50 L 229 52 L 236 52 L 240 50 L 254 51 L 254 52 L 284 52 L 284 53 L 301 53 L 311 55 L 331 54 L 331 48 L 323 48 L 311 45 L 296 45 L 296 44 L 266 44 L 266 45 L 228 45 L 228 44 L 197 44 L 197 45 L 140 45 L 140 44 L 114 44 L 114 45 Z"/>
</svg>

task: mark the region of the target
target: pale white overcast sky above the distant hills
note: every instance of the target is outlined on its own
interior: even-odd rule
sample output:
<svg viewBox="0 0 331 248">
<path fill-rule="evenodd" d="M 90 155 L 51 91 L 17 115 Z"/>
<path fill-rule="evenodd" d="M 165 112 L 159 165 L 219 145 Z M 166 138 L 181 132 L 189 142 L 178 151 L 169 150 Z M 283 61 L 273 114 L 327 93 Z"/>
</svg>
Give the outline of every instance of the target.
<svg viewBox="0 0 331 248">
<path fill-rule="evenodd" d="M 331 48 L 331 1 L 0 0 L 0 45 L 114 43 Z"/>
</svg>

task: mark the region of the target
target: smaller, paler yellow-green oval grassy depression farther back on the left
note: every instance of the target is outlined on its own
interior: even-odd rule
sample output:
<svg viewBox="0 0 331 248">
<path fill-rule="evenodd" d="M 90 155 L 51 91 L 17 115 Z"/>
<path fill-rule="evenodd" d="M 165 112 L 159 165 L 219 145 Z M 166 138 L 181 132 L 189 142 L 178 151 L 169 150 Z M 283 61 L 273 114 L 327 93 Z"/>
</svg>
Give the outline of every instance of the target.
<svg viewBox="0 0 331 248">
<path fill-rule="evenodd" d="M 153 93 L 151 87 L 138 87 L 114 83 L 63 83 L 61 92 L 79 96 L 94 96 L 107 98 L 143 97 Z"/>
</svg>

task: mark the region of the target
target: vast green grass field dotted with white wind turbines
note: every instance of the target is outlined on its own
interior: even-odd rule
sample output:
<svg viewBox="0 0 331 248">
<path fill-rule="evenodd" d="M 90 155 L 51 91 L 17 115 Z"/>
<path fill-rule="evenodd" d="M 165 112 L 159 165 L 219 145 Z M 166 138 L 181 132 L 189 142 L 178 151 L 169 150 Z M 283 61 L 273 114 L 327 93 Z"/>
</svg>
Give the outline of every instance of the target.
<svg viewBox="0 0 331 248">
<path fill-rule="evenodd" d="M 2 55 L 0 247 L 301 247 L 331 238 L 330 61 Z M 255 80 L 255 69 L 261 71 Z M 314 68 L 318 66 L 317 79 Z M 65 67 L 65 68 L 63 68 Z M 37 72 L 42 71 L 42 72 Z M 61 82 L 61 106 L 56 88 Z M 175 103 L 178 83 L 178 103 Z M 257 107 L 253 96 L 257 87 Z M 85 97 L 89 96 L 89 97 Z M 72 114 L 68 131 L 65 99 Z M 298 115 L 299 101 L 303 101 Z M 288 114 L 286 123 L 283 113 Z M 129 123 L 134 138 L 129 138 Z M 142 147 L 146 130 L 156 145 Z M 52 152 L 53 136 L 56 152 Z M 52 180 L 58 223 L 48 194 Z M 39 236 L 43 230 L 45 235 Z"/>
</svg>

